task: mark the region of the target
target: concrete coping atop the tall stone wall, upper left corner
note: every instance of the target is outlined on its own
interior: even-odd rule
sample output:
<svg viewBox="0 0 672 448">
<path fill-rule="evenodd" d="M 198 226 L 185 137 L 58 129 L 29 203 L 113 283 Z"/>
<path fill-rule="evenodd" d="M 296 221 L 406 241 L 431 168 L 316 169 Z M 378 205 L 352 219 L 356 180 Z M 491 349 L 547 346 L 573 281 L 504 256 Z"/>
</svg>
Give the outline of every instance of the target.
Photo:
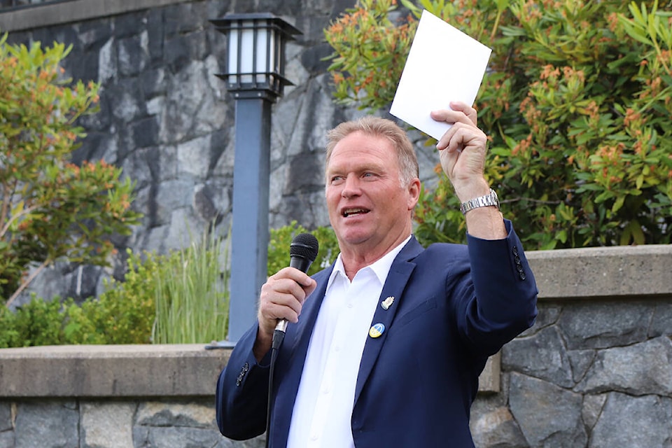
<svg viewBox="0 0 672 448">
<path fill-rule="evenodd" d="M 156 8 L 186 0 L 73 0 L 0 12 L 0 32 L 42 28 Z"/>
</svg>

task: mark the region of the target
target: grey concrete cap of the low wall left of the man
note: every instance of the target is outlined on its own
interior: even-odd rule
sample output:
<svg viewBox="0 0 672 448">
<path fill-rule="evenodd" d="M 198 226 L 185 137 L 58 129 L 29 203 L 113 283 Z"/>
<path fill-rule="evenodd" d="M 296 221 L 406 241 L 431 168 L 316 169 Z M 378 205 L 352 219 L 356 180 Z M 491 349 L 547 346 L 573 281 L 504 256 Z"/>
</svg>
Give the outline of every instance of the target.
<svg viewBox="0 0 672 448">
<path fill-rule="evenodd" d="M 230 350 L 204 344 L 66 345 L 0 350 L 1 397 L 214 395 Z"/>
</svg>

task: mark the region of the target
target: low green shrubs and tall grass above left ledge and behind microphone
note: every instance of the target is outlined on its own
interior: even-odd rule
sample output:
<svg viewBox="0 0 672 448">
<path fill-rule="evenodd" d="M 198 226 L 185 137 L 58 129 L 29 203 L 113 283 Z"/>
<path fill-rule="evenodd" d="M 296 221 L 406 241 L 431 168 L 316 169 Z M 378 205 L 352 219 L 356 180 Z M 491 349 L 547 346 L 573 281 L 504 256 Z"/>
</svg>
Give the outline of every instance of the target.
<svg viewBox="0 0 672 448">
<path fill-rule="evenodd" d="M 289 264 L 293 221 L 271 230 L 268 266 Z M 338 255 L 330 228 L 317 228 L 320 243 L 310 274 Z M 15 312 L 0 307 L 0 348 L 61 344 L 186 344 L 219 340 L 228 330 L 228 246 L 214 235 L 167 255 L 128 251 L 123 281 L 106 281 L 98 298 L 78 306 L 72 299 L 45 301 L 33 295 Z"/>
</svg>

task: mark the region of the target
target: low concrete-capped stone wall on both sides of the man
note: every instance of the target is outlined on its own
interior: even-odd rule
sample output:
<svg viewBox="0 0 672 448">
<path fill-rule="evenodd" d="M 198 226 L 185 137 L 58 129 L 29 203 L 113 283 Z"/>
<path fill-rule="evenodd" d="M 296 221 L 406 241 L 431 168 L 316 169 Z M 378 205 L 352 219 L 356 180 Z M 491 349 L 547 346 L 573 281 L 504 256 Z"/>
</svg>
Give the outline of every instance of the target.
<svg viewBox="0 0 672 448">
<path fill-rule="evenodd" d="M 490 367 L 498 381 L 479 388 L 476 446 L 671 447 L 672 246 L 528 256 L 540 313 Z M 2 349 L 0 448 L 260 448 L 263 437 L 232 442 L 216 428 L 215 382 L 229 353 Z"/>
</svg>

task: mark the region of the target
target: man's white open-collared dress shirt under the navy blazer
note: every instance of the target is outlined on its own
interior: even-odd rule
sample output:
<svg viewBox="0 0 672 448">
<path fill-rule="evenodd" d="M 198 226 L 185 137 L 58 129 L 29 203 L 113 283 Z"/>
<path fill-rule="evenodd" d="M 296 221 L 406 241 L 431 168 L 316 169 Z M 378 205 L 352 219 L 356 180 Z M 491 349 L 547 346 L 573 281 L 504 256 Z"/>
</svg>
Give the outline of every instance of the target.
<svg viewBox="0 0 672 448">
<path fill-rule="evenodd" d="M 352 282 L 338 255 L 310 338 L 288 448 L 354 448 L 350 419 L 364 344 L 392 262 L 409 239 Z"/>
</svg>

